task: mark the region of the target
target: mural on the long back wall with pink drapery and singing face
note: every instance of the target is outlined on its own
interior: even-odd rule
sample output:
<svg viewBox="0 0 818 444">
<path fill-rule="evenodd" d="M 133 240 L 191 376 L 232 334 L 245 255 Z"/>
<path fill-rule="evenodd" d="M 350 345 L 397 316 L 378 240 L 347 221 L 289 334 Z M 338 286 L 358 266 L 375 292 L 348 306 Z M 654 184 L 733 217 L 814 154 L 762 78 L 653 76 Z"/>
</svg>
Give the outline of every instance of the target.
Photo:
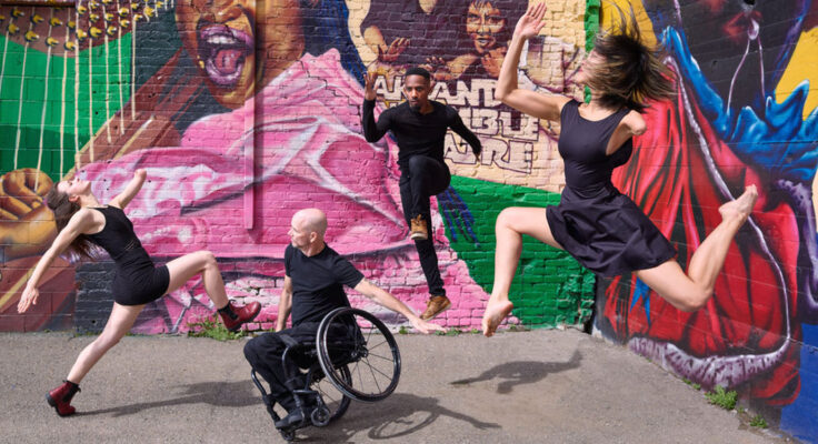
<svg viewBox="0 0 818 444">
<path fill-rule="evenodd" d="M 493 99 L 510 29 L 525 8 L 509 0 L 79 0 L 64 10 L 3 7 L 4 54 L 14 56 L 9 65 L 19 70 L 18 61 L 31 64 L 37 58 L 40 71 L 66 67 L 44 80 L 47 90 L 60 94 L 46 93 L 33 103 L 38 113 L 18 112 L 29 100 L 13 92 L 43 84 L 40 71 L 23 68 L 6 75 L 13 84 L 1 85 L 4 147 L 17 148 L 13 162 L 3 148 L 3 185 L 16 201 L 18 190 L 30 194 L 2 213 L 0 312 L 2 322 L 16 323 L 3 330 L 70 326 L 73 282 L 86 294 L 101 279 L 99 268 L 66 262 L 41 289 L 51 295 L 49 306 L 39 306 L 37 315 L 13 315 L 17 292 L 54 235 L 41 198 L 48 188 L 79 174 L 107 200 L 137 168 L 147 170 L 148 181 L 128 215 L 148 252 L 163 262 L 212 251 L 229 295 L 262 302 L 256 327 L 272 326 L 289 218 L 308 205 L 327 212 L 335 250 L 421 310 L 428 294 L 400 211 L 397 144 L 388 138 L 367 143 L 359 109 L 365 72 L 380 74 L 378 92 L 389 107 L 401 100 L 402 73 L 412 64 L 433 72 L 432 98 L 455 105 L 486 147 L 478 164 L 449 135 L 447 159 L 457 176 L 432 212 L 452 301 L 443 320 L 479 326 L 490 290 L 496 214 L 508 204 L 558 199 L 562 183 L 558 125 Z M 585 9 L 572 2 L 558 9 L 572 24 L 532 41 L 520 70 L 531 89 L 581 97 L 570 80 L 583 54 Z M 61 88 L 51 87 L 58 79 Z M 40 113 L 50 139 L 26 137 L 37 133 L 33 115 Z M 10 140 L 14 132 L 23 135 Z M 562 253 L 531 250 L 528 276 L 516 282 L 521 317 L 510 321 L 581 322 L 589 314 L 592 276 Z M 543 286 L 536 276 L 555 272 L 545 266 L 552 259 L 568 262 L 559 273 L 569 282 Z M 369 300 L 351 299 L 392 324 L 401 322 Z M 212 313 L 209 304 L 200 283 L 191 281 L 152 303 L 134 331 L 184 332 Z"/>
</svg>

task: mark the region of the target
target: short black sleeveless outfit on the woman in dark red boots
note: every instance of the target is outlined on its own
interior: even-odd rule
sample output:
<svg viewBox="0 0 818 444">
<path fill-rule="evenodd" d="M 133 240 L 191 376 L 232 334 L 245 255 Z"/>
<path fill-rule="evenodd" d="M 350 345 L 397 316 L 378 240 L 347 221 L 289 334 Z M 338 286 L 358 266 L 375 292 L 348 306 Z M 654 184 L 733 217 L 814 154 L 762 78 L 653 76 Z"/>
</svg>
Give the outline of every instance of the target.
<svg viewBox="0 0 818 444">
<path fill-rule="evenodd" d="M 168 266 L 156 266 L 133 233 L 133 224 L 121 209 L 100 206 L 106 226 L 88 239 L 104 249 L 117 264 L 113 278 L 113 300 L 120 305 L 142 305 L 156 301 L 168 291 Z"/>
</svg>

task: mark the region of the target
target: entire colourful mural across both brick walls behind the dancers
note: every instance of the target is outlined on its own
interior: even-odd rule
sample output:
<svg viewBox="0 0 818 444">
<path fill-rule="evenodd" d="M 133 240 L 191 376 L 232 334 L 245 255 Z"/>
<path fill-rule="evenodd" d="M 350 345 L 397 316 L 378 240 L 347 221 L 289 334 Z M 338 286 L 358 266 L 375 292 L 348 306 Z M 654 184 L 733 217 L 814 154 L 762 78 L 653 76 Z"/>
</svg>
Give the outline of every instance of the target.
<svg viewBox="0 0 818 444">
<path fill-rule="evenodd" d="M 399 210 L 397 147 L 367 143 L 365 72 L 379 107 L 401 100 L 407 67 L 427 67 L 432 97 L 483 142 L 478 162 L 447 139 L 452 186 L 433 209 L 453 306 L 449 326 L 479 326 L 493 272 L 493 222 L 506 206 L 556 203 L 563 185 L 558 122 L 497 102 L 513 0 L 78 0 L 76 8 L 0 7 L 0 330 L 70 329 L 77 292 L 104 289 L 106 262 L 50 270 L 33 313 L 19 290 L 54 229 L 42 195 L 81 174 L 114 195 L 133 169 L 149 181 L 128 209 L 148 251 L 219 259 L 228 292 L 258 300 L 256 329 L 277 314 L 293 211 L 323 208 L 330 244 L 419 310 L 423 274 Z M 599 1 L 548 0 L 521 84 L 580 98 L 572 83 Z M 596 329 L 704 386 L 738 390 L 807 441 L 818 436 L 818 3 L 814 0 L 618 0 L 667 48 L 678 95 L 654 103 L 649 132 L 615 183 L 651 216 L 686 265 L 755 183 L 760 211 L 732 245 L 716 296 L 681 313 L 632 276 L 596 285 Z M 610 4 L 606 8 L 610 8 Z M 605 9 L 602 28 L 616 14 Z M 381 108 L 382 109 L 382 108 Z M 511 322 L 576 324 L 595 278 L 562 252 L 526 241 Z M 397 326 L 368 300 L 355 304 Z M 184 332 L 212 312 L 198 282 L 156 303 L 134 332 Z M 92 301 L 101 320 L 110 301 Z M 83 305 L 82 310 L 86 310 Z"/>
</svg>

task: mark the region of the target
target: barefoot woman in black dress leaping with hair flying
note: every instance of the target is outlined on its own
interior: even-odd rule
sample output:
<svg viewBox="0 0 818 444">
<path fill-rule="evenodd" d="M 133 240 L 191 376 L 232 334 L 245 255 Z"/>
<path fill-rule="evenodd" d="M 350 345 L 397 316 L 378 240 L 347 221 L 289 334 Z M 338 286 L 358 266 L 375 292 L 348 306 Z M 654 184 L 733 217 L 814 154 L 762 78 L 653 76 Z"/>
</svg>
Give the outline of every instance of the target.
<svg viewBox="0 0 818 444">
<path fill-rule="evenodd" d="M 500 70 L 496 99 L 540 119 L 560 120 L 559 153 L 566 188 L 560 204 L 548 209 L 508 208 L 497 218 L 495 285 L 482 319 L 491 336 L 511 312 L 508 299 L 522 249 L 522 234 L 563 249 L 603 276 L 635 272 L 675 307 L 691 312 L 710 299 L 727 251 L 745 223 L 758 193 L 748 186 L 737 200 L 719 208 L 722 221 L 699 245 L 687 274 L 674 260 L 676 251 L 659 229 L 611 183 L 625 164 L 634 135 L 647 130 L 640 111 L 648 99 L 671 97 L 672 73 L 658 52 L 640 41 L 634 16 L 621 16 L 616 33 L 600 34 L 576 81 L 591 91 L 590 103 L 543 95 L 517 88 L 517 65 L 525 41 L 545 26 L 545 3 L 528 9 L 515 29 Z"/>
</svg>

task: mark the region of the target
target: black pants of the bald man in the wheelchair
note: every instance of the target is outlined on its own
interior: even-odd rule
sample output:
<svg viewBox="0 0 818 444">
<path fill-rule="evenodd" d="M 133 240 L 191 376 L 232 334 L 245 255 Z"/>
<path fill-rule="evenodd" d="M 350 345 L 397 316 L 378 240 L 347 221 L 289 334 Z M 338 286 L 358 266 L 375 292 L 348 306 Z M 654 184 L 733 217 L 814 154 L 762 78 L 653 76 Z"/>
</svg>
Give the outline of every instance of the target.
<svg viewBox="0 0 818 444">
<path fill-rule="evenodd" d="M 281 340 L 281 334 L 287 334 L 299 344 L 308 344 L 301 351 L 315 350 L 316 332 L 318 332 L 318 322 L 303 322 L 291 329 L 282 330 L 278 333 L 265 333 L 261 336 L 253 337 L 245 345 L 245 357 L 250 366 L 256 370 L 270 384 L 270 394 L 281 404 L 288 412 L 296 408 L 296 400 L 292 391 L 303 389 L 305 380 L 300 376 L 299 369 L 308 369 L 315 364 L 317 359 L 313 354 L 293 353 L 290 351 L 286 362 L 281 356 L 287 349 L 287 344 Z M 329 337 L 353 337 L 356 330 L 335 323 L 332 330 L 328 332 Z M 287 366 L 285 373 L 285 365 Z M 296 376 L 288 381 L 286 375 Z"/>
</svg>

